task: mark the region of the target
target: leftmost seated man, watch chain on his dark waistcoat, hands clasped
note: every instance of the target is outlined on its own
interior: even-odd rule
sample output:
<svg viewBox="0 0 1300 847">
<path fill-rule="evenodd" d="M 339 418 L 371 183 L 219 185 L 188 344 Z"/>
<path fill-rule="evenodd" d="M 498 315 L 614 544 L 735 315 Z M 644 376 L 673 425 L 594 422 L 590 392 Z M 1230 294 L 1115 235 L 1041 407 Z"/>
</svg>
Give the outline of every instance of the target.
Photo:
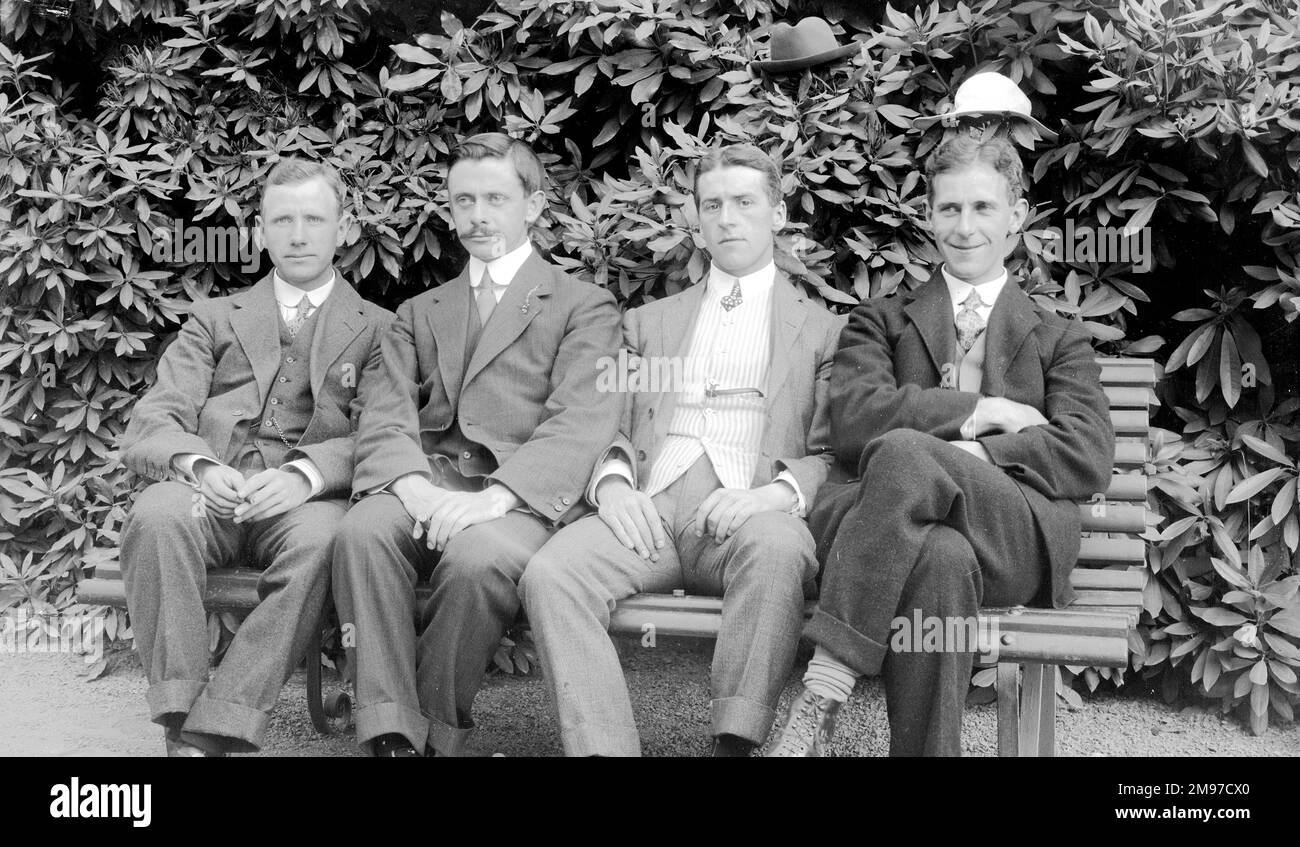
<svg viewBox="0 0 1300 847">
<path fill-rule="evenodd" d="M 328 165 L 270 170 L 255 235 L 274 272 L 194 304 L 122 435 L 122 462 L 157 481 L 122 526 L 122 575 L 173 755 L 256 750 L 320 625 L 359 392 L 393 318 L 332 266 L 342 204 Z M 209 681 L 204 574 L 246 561 L 265 568 L 261 603 Z"/>
</svg>

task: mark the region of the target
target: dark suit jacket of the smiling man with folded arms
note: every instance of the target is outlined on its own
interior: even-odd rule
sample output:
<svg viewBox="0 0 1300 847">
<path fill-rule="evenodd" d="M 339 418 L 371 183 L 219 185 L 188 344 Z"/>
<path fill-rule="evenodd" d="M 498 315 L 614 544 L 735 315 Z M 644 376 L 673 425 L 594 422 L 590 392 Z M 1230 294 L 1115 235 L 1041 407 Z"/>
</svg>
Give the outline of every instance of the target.
<svg viewBox="0 0 1300 847">
<path fill-rule="evenodd" d="M 1114 433 L 1088 331 L 1044 310 L 1009 281 L 985 329 L 980 394 L 942 387 L 956 362 L 953 307 L 941 272 L 915 291 L 868 300 L 849 316 L 831 379 L 832 478 L 858 479 L 866 444 L 893 429 L 959 440 L 980 394 L 1032 405 L 1048 420 L 978 440 L 1019 485 L 1046 539 L 1052 601 L 1072 599 L 1076 500 L 1105 491 Z M 956 365 L 952 365 L 956 379 Z"/>
</svg>

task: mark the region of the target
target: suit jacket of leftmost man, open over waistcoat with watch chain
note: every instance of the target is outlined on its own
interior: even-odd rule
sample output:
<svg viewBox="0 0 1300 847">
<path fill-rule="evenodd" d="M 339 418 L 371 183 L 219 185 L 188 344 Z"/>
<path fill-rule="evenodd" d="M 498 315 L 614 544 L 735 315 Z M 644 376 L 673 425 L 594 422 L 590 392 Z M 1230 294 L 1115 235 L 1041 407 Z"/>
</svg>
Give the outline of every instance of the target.
<svg viewBox="0 0 1300 847">
<path fill-rule="evenodd" d="M 360 398 L 380 372 L 380 338 L 393 313 L 360 295 L 335 269 L 311 348 L 311 422 L 286 461 L 311 459 L 325 488 L 346 496 Z M 280 304 L 270 274 L 230 296 L 194 304 L 131 412 L 122 462 L 150 479 L 172 478 L 172 457 L 199 453 L 229 464 L 261 416 L 280 369 Z"/>
</svg>

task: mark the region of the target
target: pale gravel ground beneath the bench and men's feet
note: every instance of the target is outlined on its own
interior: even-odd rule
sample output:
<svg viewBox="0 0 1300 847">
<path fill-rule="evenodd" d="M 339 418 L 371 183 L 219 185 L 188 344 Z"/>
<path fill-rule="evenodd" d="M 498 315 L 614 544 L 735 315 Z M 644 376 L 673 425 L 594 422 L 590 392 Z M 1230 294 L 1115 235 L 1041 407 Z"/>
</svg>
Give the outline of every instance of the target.
<svg viewBox="0 0 1300 847">
<path fill-rule="evenodd" d="M 708 752 L 707 642 L 660 642 L 642 650 L 620 640 L 632 704 L 647 756 L 703 756 Z M 114 657 L 100 679 L 79 676 L 74 656 L 0 653 L 0 755 L 160 756 L 162 739 L 148 720 L 144 676 L 131 653 Z M 798 690 L 792 674 L 781 704 Z M 330 681 L 326 681 L 330 686 Z M 477 743 L 508 756 L 560 753 L 559 733 L 541 679 L 489 678 L 474 704 Z M 996 755 L 997 713 L 992 705 L 966 711 L 968 756 Z M 1082 709 L 1057 717 L 1062 756 L 1297 756 L 1300 724 L 1270 726 L 1252 737 L 1234 720 L 1202 707 L 1166 705 L 1156 694 L 1130 686 L 1084 698 Z M 884 694 L 878 681 L 858 686 L 841 712 L 833 752 L 880 756 L 888 750 Z M 322 738 L 307 717 L 302 673 L 285 686 L 261 756 L 356 756 L 351 731 Z"/>
</svg>

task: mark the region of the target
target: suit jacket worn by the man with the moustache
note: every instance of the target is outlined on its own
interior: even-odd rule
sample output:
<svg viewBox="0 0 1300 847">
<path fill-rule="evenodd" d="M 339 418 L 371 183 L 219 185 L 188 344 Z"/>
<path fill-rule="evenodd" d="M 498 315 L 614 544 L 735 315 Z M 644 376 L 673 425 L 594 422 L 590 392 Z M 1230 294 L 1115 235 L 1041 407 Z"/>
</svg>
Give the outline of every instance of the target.
<svg viewBox="0 0 1300 847">
<path fill-rule="evenodd" d="M 618 353 L 619 307 L 533 252 L 467 362 L 472 308 L 468 266 L 398 308 L 384 340 L 385 377 L 361 414 L 354 496 L 411 473 L 429 478 L 429 455 L 455 421 L 491 451 L 489 479 L 536 514 L 571 521 L 619 425 L 618 395 L 598 391 L 595 379 L 598 360 Z"/>
</svg>

